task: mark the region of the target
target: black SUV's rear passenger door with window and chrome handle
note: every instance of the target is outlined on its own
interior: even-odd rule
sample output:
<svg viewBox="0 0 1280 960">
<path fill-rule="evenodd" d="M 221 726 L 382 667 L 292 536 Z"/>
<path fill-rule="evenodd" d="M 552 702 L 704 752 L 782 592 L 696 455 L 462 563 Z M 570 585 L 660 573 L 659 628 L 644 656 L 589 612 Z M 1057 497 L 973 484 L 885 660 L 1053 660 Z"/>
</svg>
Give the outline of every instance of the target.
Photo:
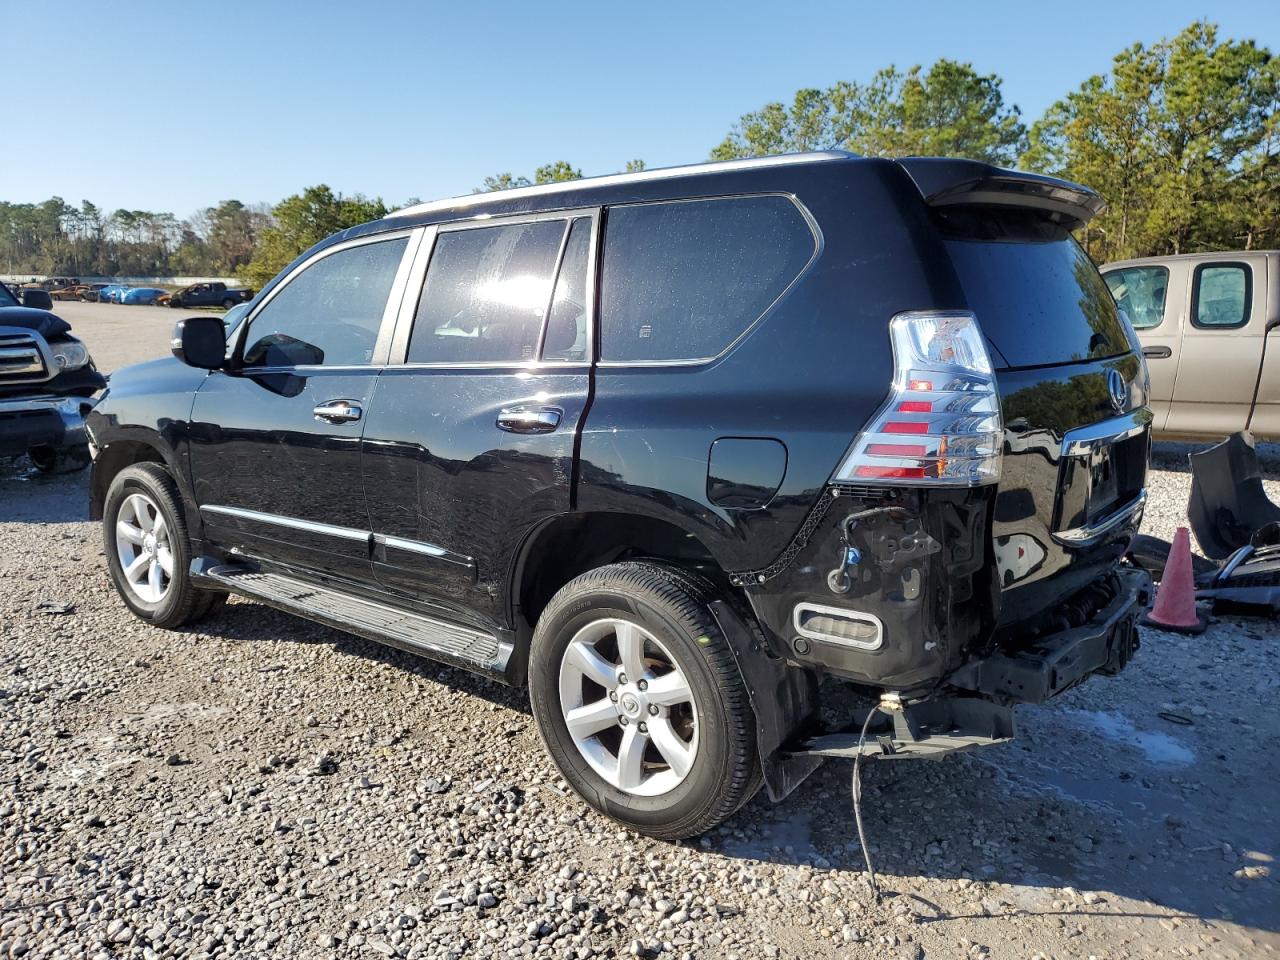
<svg viewBox="0 0 1280 960">
<path fill-rule="evenodd" d="M 520 543 L 572 508 L 598 228 L 470 220 L 419 252 L 361 462 L 378 580 L 452 620 L 507 626 Z"/>
</svg>

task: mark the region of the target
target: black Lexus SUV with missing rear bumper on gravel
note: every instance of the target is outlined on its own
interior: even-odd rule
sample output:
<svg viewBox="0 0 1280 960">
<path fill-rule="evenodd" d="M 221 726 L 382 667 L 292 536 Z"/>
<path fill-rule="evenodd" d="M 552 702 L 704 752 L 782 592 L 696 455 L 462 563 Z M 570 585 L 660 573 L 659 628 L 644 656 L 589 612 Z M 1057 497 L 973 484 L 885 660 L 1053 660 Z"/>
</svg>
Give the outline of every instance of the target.
<svg viewBox="0 0 1280 960">
<path fill-rule="evenodd" d="M 1146 371 L 1069 234 L 1100 206 L 810 154 L 344 230 L 113 376 L 111 577 L 161 626 L 236 593 L 527 682 L 654 836 L 823 756 L 1006 740 L 1128 662 L 1149 590 Z"/>
</svg>

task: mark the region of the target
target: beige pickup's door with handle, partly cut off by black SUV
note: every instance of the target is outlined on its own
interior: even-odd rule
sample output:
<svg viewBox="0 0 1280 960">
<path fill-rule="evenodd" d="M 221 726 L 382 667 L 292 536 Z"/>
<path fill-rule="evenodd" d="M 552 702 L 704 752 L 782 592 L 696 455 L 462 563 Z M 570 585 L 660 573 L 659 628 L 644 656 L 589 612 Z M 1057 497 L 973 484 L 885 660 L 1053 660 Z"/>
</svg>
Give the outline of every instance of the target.
<svg viewBox="0 0 1280 960">
<path fill-rule="evenodd" d="M 1174 381 L 1183 348 L 1187 261 L 1133 264 L 1102 273 L 1116 305 L 1129 317 L 1151 372 L 1152 429 L 1164 430 L 1174 399 Z"/>
</svg>

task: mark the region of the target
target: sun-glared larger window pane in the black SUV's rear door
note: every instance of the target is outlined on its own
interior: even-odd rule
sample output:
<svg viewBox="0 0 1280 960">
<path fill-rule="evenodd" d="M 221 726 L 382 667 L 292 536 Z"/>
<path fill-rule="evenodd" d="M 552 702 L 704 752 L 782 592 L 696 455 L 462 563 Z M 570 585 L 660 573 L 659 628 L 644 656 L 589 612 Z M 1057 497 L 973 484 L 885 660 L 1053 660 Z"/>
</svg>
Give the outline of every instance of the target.
<svg viewBox="0 0 1280 960">
<path fill-rule="evenodd" d="M 564 227 L 539 220 L 436 237 L 408 362 L 534 360 Z"/>
</svg>

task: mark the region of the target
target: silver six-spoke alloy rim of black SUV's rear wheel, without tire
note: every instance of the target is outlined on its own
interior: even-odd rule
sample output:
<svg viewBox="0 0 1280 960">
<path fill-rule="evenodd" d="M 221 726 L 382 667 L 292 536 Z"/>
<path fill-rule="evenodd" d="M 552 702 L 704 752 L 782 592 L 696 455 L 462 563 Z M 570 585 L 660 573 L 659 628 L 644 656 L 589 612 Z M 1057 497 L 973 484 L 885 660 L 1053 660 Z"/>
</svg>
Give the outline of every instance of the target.
<svg viewBox="0 0 1280 960">
<path fill-rule="evenodd" d="M 579 630 L 561 659 L 559 700 L 579 753 L 607 783 L 658 796 L 698 756 L 698 705 L 671 652 L 627 620 Z"/>
</svg>

